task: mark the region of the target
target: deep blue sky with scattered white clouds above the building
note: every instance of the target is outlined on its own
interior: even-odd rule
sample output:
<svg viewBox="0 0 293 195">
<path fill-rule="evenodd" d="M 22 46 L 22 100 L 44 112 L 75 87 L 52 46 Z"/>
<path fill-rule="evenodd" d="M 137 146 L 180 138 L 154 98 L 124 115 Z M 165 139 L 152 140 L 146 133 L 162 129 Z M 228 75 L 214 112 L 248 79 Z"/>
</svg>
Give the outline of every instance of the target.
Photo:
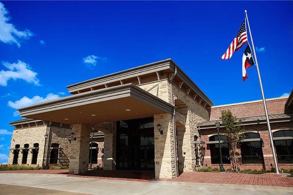
<svg viewBox="0 0 293 195">
<path fill-rule="evenodd" d="M 266 98 L 293 88 L 292 1 L 0 1 L 0 163 L 16 109 L 66 86 L 173 59 L 214 105 L 261 99 L 245 47 L 220 59 L 248 10 Z M 250 39 L 249 39 L 250 41 Z"/>
</svg>

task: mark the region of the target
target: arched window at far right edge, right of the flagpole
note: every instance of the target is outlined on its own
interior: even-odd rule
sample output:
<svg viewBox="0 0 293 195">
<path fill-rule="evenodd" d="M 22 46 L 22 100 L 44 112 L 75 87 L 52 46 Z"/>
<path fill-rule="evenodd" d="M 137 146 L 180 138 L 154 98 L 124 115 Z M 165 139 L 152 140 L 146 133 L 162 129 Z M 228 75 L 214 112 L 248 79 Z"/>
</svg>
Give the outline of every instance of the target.
<svg viewBox="0 0 293 195">
<path fill-rule="evenodd" d="M 274 145 L 279 163 L 293 163 L 293 131 L 280 130 L 273 134 Z"/>
</svg>

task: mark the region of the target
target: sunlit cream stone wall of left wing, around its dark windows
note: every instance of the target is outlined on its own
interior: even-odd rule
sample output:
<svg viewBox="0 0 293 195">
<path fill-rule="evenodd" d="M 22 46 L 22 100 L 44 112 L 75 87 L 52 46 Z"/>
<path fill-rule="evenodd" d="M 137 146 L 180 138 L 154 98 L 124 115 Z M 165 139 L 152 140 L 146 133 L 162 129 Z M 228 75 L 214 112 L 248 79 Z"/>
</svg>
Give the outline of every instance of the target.
<svg viewBox="0 0 293 195">
<path fill-rule="evenodd" d="M 14 129 L 11 137 L 10 148 L 15 148 L 16 144 L 20 144 L 23 148 L 24 144 L 29 144 L 29 147 L 33 147 L 34 143 L 39 143 L 39 153 L 37 158 L 37 165 L 42 166 L 42 157 L 44 153 L 44 135 L 46 134 L 47 125 L 27 127 L 23 129 Z M 31 151 L 31 150 L 30 150 Z M 8 164 L 13 163 L 13 154 L 9 152 Z M 21 164 L 22 154 L 19 153 L 18 164 Z M 32 153 L 29 152 L 27 156 L 27 163 L 31 164 Z"/>
</svg>

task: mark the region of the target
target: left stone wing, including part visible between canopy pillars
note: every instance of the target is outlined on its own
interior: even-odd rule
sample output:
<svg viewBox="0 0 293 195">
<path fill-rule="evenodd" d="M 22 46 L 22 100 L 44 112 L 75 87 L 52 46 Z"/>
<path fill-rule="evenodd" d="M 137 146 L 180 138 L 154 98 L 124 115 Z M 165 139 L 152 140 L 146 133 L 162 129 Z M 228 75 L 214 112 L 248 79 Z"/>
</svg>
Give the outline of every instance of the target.
<svg viewBox="0 0 293 195">
<path fill-rule="evenodd" d="M 24 118 L 11 122 L 14 126 L 8 164 L 69 165 L 71 125 Z M 69 138 L 69 139 L 68 139 Z M 92 164 L 103 166 L 104 133 L 95 132 Z"/>
</svg>

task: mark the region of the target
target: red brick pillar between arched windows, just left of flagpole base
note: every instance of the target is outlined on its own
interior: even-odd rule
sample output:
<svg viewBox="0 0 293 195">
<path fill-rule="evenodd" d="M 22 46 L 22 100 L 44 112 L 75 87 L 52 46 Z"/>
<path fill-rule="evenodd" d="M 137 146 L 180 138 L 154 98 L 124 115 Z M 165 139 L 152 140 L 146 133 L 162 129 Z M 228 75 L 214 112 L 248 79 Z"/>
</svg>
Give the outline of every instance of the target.
<svg viewBox="0 0 293 195">
<path fill-rule="evenodd" d="M 272 168 L 272 166 L 274 166 L 274 163 L 273 163 L 272 147 L 271 147 L 270 136 L 269 136 L 268 130 L 260 131 L 259 136 L 260 136 L 260 138 L 262 138 L 263 144 L 264 144 L 264 146 L 262 147 L 262 151 L 263 151 L 263 156 L 264 156 L 265 169 L 270 170 Z"/>
</svg>

